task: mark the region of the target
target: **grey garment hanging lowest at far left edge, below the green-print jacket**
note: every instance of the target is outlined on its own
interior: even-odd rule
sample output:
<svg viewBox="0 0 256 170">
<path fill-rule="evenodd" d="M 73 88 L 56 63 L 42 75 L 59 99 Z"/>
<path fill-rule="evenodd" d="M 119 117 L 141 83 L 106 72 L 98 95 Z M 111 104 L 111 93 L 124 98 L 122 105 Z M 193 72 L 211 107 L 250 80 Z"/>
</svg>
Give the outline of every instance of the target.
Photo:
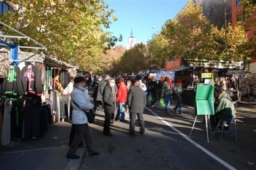
<svg viewBox="0 0 256 170">
<path fill-rule="evenodd" d="M 10 144 L 11 139 L 11 110 L 12 105 L 10 101 L 4 102 L 4 115 L 3 115 L 3 125 L 1 129 L 1 144 L 8 145 Z"/>
</svg>

